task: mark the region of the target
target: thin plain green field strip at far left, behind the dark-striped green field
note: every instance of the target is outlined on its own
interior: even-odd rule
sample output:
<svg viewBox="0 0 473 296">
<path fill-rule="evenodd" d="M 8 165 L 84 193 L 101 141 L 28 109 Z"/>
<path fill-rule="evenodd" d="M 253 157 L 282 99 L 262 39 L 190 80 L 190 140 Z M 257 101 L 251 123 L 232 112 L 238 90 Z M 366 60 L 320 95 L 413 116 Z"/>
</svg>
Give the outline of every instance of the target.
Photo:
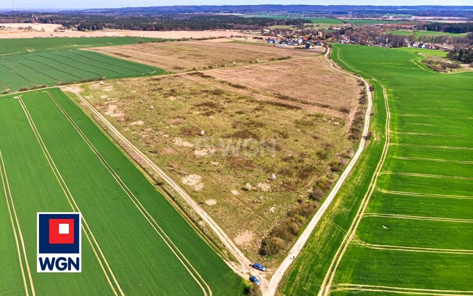
<svg viewBox="0 0 473 296">
<path fill-rule="evenodd" d="M 0 38 L 0 56 L 32 51 L 64 50 L 72 48 L 112 46 L 157 41 L 158 38 L 140 37 L 50 37 L 50 38 Z"/>
</svg>

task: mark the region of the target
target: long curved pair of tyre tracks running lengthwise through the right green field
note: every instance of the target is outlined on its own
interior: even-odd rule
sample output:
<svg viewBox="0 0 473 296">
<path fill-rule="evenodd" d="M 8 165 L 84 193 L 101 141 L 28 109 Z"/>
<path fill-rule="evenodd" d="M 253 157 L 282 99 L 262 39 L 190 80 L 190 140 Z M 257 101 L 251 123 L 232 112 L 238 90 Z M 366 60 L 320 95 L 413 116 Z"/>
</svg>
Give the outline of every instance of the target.
<svg viewBox="0 0 473 296">
<path fill-rule="evenodd" d="M 340 59 L 340 61 L 341 61 L 341 59 Z M 364 212 L 366 211 L 366 208 L 368 206 L 368 202 L 370 201 L 371 195 L 374 191 L 376 181 L 377 181 L 379 173 L 381 172 L 381 169 L 383 167 L 384 160 L 386 159 L 386 155 L 387 155 L 388 148 L 389 148 L 389 141 L 390 141 L 389 125 L 390 125 L 391 113 L 389 111 L 388 96 L 387 96 L 386 88 L 384 87 L 384 85 L 382 85 L 376 79 L 373 79 L 373 80 L 376 81 L 382 87 L 383 97 L 384 97 L 384 104 L 385 104 L 386 114 L 387 114 L 387 119 L 386 119 L 386 123 L 385 123 L 386 138 L 385 138 L 385 142 L 384 142 L 383 152 L 382 152 L 381 158 L 379 159 L 379 162 L 376 166 L 376 170 L 375 170 L 374 175 L 372 177 L 372 181 L 370 183 L 368 191 L 365 194 L 365 197 L 363 198 L 363 200 L 361 202 L 360 208 L 358 209 L 358 212 L 355 216 L 355 219 L 353 220 L 347 234 L 343 238 L 343 242 L 341 243 L 340 247 L 338 248 L 338 251 L 337 251 L 335 257 L 332 260 L 332 264 L 330 265 L 330 268 L 329 268 L 329 270 L 328 270 L 328 272 L 327 272 L 327 274 L 324 278 L 324 281 L 322 282 L 320 291 L 318 293 L 319 296 L 327 296 L 327 295 L 330 294 L 330 290 L 331 290 L 332 283 L 333 283 L 333 280 L 334 280 L 334 277 L 335 277 L 335 273 L 337 271 L 338 264 L 340 263 L 341 259 L 343 258 L 343 255 L 345 254 L 350 242 L 355 237 L 356 230 L 357 230 L 358 225 L 360 224 L 360 222 L 363 218 Z"/>
</svg>

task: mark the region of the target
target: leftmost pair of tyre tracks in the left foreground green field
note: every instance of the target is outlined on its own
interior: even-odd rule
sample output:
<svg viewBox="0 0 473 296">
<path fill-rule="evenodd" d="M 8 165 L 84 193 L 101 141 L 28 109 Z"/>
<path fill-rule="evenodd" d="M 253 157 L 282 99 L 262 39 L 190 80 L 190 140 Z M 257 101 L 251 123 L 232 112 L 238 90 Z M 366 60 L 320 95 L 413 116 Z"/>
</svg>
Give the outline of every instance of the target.
<svg viewBox="0 0 473 296">
<path fill-rule="evenodd" d="M 25 242 L 23 240 L 23 234 L 21 232 L 20 222 L 18 221 L 18 216 L 16 215 L 15 204 L 13 202 L 13 197 L 11 195 L 10 185 L 8 183 L 5 163 L 3 162 L 3 156 L 1 155 L 1 151 L 0 151 L 0 162 L 1 162 L 0 163 L 0 177 L 1 177 L 1 182 L 3 185 L 3 192 L 5 194 L 6 204 L 8 206 L 8 214 L 10 216 L 11 227 L 13 229 L 13 235 L 15 237 L 16 251 L 18 253 L 18 260 L 20 262 L 20 270 L 21 270 L 21 276 L 23 279 L 23 284 L 25 286 L 25 294 L 29 296 L 30 291 L 31 291 L 31 295 L 35 296 L 36 293 L 34 291 L 33 278 L 31 275 L 30 265 L 28 264 L 28 258 L 26 255 Z M 15 219 L 13 219 L 12 214 L 15 216 Z M 19 242 L 21 242 L 21 248 L 20 248 Z M 23 262 L 22 257 L 25 259 L 25 262 Z M 25 272 L 25 267 L 23 266 L 23 263 L 25 263 L 26 265 L 26 272 Z M 27 276 L 28 276 L 28 281 L 26 279 Z"/>
</svg>

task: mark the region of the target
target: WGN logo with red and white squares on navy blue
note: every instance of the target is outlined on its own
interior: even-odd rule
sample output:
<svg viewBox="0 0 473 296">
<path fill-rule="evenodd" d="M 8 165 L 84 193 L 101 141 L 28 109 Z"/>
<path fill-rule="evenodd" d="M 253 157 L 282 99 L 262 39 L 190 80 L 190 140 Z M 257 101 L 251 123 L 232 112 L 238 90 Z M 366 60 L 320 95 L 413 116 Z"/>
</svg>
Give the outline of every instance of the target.
<svg viewBox="0 0 473 296">
<path fill-rule="evenodd" d="M 81 271 L 80 222 L 80 213 L 37 213 L 37 272 Z"/>
</svg>

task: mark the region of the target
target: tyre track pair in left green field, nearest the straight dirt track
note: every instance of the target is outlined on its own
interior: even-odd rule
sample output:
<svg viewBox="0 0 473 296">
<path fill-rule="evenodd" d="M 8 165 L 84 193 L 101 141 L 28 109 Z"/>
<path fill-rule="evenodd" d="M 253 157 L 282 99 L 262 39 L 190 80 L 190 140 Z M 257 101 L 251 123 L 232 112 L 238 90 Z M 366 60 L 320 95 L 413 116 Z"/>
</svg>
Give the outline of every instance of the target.
<svg viewBox="0 0 473 296">
<path fill-rule="evenodd" d="M 132 202 L 135 204 L 135 206 L 138 208 L 140 213 L 143 215 L 143 217 L 146 219 L 147 222 L 154 228 L 156 233 L 163 239 L 163 241 L 166 243 L 166 245 L 169 247 L 169 249 L 172 251 L 172 253 L 176 256 L 176 258 L 181 262 L 181 264 L 186 268 L 186 270 L 189 272 L 189 274 L 194 278 L 196 283 L 201 287 L 203 291 L 204 296 L 212 296 L 212 290 L 210 289 L 210 286 L 205 282 L 203 277 L 199 274 L 199 272 L 196 270 L 196 268 L 191 264 L 191 262 L 182 254 L 182 252 L 177 248 L 177 246 L 172 242 L 172 240 L 169 238 L 169 236 L 166 234 L 166 232 L 161 228 L 161 226 L 156 222 L 156 220 L 151 216 L 151 214 L 146 210 L 146 208 L 141 204 L 139 199 L 135 196 L 132 190 L 126 185 L 125 182 L 120 178 L 118 173 L 112 168 L 112 166 L 106 161 L 106 159 L 103 157 L 103 155 L 100 153 L 100 151 L 94 146 L 94 144 L 90 141 L 90 139 L 85 135 L 85 133 L 80 129 L 80 127 L 75 123 L 75 121 L 70 117 L 68 112 L 62 108 L 62 106 L 58 103 L 58 101 L 54 98 L 54 96 L 48 92 L 45 91 L 48 96 L 51 98 L 51 100 L 56 104 L 56 106 L 59 108 L 59 110 L 66 116 L 68 119 L 69 123 L 74 127 L 74 129 L 79 133 L 81 138 L 86 142 L 87 146 L 94 152 L 94 154 L 99 158 L 100 162 L 102 165 L 107 169 L 107 171 L 112 175 L 114 180 L 120 185 L 120 187 L 125 191 L 125 193 L 130 197 Z M 177 254 L 179 253 L 179 254 Z M 185 262 L 184 262 L 185 261 Z M 191 271 L 192 269 L 192 271 Z M 199 279 L 198 279 L 199 278 Z M 205 288 L 203 287 L 205 286 Z M 208 294 L 207 294 L 208 292 Z"/>
</svg>

